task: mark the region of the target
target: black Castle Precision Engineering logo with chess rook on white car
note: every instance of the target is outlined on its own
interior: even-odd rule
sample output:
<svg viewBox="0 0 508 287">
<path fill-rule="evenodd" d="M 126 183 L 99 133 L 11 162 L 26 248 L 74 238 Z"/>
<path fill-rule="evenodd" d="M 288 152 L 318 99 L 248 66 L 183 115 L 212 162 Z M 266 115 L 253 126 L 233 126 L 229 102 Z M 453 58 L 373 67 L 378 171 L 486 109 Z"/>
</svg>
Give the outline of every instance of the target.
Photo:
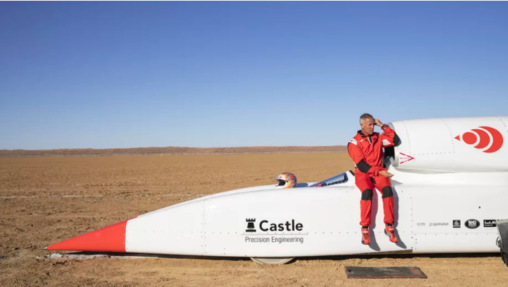
<svg viewBox="0 0 508 287">
<path fill-rule="evenodd" d="M 245 243 L 304 243 L 303 223 L 290 219 L 287 221 L 269 221 L 267 219 L 245 218 L 247 229 Z"/>
</svg>

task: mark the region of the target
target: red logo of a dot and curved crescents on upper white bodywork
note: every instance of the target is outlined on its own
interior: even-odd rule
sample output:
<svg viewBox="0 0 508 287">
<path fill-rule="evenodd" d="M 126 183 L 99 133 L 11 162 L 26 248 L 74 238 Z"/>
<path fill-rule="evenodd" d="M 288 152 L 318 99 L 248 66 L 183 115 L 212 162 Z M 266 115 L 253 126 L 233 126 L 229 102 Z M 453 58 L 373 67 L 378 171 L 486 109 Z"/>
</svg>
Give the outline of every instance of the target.
<svg viewBox="0 0 508 287">
<path fill-rule="evenodd" d="M 471 131 L 457 135 L 455 139 L 474 145 L 475 148 L 484 149 L 483 152 L 497 152 L 503 146 L 503 135 L 490 126 L 480 126 L 473 128 Z"/>
</svg>

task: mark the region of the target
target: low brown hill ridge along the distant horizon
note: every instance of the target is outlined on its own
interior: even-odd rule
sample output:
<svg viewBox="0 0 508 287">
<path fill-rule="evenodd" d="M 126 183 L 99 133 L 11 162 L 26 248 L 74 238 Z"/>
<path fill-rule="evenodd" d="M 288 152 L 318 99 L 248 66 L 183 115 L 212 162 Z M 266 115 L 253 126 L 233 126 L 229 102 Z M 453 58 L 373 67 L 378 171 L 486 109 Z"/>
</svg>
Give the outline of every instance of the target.
<svg viewBox="0 0 508 287">
<path fill-rule="evenodd" d="M 247 154 L 276 152 L 346 152 L 346 146 L 245 146 L 235 148 L 72 148 L 60 150 L 0 150 L 0 157 L 114 156 L 149 154 Z"/>
</svg>

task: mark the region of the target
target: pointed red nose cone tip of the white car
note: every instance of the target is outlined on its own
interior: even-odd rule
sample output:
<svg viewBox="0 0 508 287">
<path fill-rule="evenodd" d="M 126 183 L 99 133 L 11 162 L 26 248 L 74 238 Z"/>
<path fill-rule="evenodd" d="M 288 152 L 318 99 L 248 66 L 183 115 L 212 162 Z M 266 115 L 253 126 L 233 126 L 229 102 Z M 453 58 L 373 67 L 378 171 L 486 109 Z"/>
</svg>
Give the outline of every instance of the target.
<svg viewBox="0 0 508 287">
<path fill-rule="evenodd" d="M 125 228 L 127 220 L 55 243 L 48 250 L 125 252 Z"/>
</svg>

